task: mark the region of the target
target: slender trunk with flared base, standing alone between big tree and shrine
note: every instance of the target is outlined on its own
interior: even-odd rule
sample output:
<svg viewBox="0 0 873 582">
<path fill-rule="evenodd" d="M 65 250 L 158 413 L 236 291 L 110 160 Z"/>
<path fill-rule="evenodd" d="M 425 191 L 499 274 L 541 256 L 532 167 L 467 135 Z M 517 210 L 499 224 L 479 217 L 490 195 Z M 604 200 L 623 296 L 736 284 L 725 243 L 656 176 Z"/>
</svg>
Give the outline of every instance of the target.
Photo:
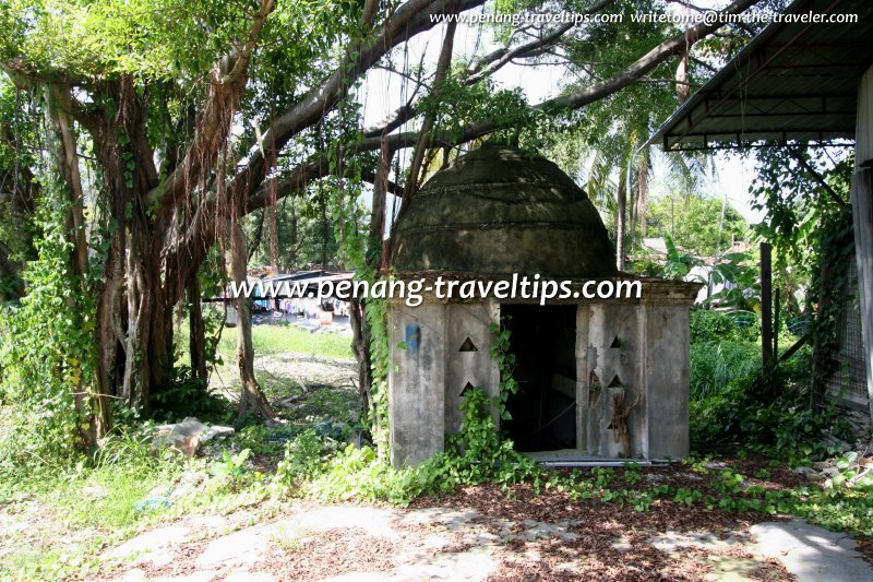
<svg viewBox="0 0 873 582">
<path fill-rule="evenodd" d="M 232 225 L 231 236 L 231 271 L 238 288 L 246 283 L 247 256 L 246 234 L 239 225 Z M 251 302 L 244 294 L 237 297 L 237 365 L 242 391 L 239 396 L 238 418 L 251 415 L 267 423 L 276 419 L 276 412 L 270 405 L 254 377 L 254 347 L 252 346 L 252 311 Z"/>
</svg>

